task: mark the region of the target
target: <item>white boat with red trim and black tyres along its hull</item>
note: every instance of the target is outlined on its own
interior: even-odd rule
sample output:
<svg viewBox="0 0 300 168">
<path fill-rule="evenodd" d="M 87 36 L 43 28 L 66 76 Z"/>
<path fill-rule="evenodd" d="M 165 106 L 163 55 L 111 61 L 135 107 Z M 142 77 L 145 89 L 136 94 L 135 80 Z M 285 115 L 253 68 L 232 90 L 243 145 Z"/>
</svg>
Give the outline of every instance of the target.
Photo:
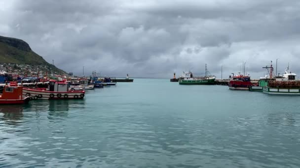
<svg viewBox="0 0 300 168">
<path fill-rule="evenodd" d="M 49 80 L 47 88 L 23 88 L 23 97 L 29 96 L 34 100 L 83 99 L 84 95 L 84 90 L 69 91 L 68 83 L 55 80 Z"/>
</svg>

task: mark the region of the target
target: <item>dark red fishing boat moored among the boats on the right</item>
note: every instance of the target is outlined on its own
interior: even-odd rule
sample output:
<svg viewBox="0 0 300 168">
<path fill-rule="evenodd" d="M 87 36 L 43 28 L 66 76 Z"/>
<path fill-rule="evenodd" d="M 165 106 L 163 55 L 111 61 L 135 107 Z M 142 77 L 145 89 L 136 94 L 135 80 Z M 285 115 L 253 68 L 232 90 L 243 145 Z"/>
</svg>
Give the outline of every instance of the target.
<svg viewBox="0 0 300 168">
<path fill-rule="evenodd" d="M 229 89 L 231 90 L 249 90 L 253 84 L 250 81 L 250 76 L 236 75 L 230 76 Z"/>
</svg>

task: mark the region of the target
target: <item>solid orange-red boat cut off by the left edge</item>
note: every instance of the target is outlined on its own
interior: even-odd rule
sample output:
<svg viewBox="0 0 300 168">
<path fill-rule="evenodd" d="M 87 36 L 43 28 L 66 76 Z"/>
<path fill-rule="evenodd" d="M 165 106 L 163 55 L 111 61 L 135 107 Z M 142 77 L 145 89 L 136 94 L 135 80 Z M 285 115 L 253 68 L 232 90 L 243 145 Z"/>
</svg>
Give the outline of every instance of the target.
<svg viewBox="0 0 300 168">
<path fill-rule="evenodd" d="M 24 104 L 28 103 L 30 98 L 22 96 L 23 86 L 18 86 L 16 82 L 10 82 L 3 88 L 0 94 L 0 105 L 2 104 Z"/>
</svg>

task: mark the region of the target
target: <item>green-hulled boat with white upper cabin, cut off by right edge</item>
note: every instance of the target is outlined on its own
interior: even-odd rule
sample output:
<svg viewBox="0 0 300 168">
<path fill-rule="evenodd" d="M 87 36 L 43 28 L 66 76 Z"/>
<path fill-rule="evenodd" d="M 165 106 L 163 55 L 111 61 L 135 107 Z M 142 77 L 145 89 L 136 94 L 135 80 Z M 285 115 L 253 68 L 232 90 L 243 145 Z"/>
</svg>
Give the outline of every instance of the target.
<svg viewBox="0 0 300 168">
<path fill-rule="evenodd" d="M 285 74 L 274 80 L 267 81 L 267 86 L 263 87 L 263 93 L 266 94 L 287 94 L 300 95 L 300 81 L 296 81 L 296 74 L 285 69 Z"/>
</svg>

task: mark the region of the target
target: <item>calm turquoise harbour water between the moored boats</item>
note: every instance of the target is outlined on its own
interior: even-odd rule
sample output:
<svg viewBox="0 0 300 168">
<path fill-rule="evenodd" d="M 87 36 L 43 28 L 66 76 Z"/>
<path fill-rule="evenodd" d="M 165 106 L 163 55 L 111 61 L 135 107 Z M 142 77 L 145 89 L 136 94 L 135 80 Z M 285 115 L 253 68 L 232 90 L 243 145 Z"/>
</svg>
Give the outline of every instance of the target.
<svg viewBox="0 0 300 168">
<path fill-rule="evenodd" d="M 0 167 L 299 168 L 300 96 L 135 79 L 0 106 Z"/>
</svg>

